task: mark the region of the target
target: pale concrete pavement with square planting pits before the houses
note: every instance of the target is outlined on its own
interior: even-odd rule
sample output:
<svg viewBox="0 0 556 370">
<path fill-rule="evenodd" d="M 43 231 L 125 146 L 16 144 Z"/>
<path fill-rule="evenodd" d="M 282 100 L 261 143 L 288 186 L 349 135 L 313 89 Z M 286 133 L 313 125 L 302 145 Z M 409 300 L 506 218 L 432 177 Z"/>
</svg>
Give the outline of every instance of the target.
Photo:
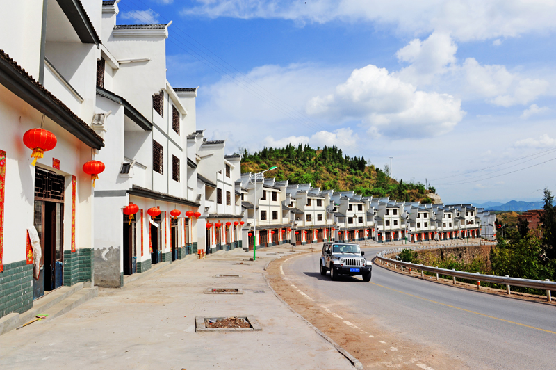
<svg viewBox="0 0 556 370">
<path fill-rule="evenodd" d="M 252 252 L 240 249 L 204 260 L 188 257 L 128 280 L 122 289 L 100 289 L 97 298 L 63 316 L 0 336 L 1 368 L 352 369 L 265 282 L 266 264 L 289 250 L 258 250 L 256 262 L 249 261 Z M 205 294 L 209 287 L 244 293 Z M 255 316 L 263 330 L 195 332 L 195 316 L 246 315 Z"/>
</svg>

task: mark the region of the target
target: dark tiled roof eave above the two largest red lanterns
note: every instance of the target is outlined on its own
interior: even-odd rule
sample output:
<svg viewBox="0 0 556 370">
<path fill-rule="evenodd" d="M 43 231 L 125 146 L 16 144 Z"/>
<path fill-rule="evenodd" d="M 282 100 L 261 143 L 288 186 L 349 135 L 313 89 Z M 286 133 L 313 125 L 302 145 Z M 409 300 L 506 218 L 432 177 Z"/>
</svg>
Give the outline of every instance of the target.
<svg viewBox="0 0 556 370">
<path fill-rule="evenodd" d="M 0 83 L 3 86 L 89 147 L 97 150 L 104 147 L 104 140 L 88 124 L 62 102 L 57 102 L 58 98 L 35 81 L 15 61 L 12 60 L 13 63 L 10 63 L 8 59 L 11 59 L 8 54 L 0 50 Z"/>
</svg>

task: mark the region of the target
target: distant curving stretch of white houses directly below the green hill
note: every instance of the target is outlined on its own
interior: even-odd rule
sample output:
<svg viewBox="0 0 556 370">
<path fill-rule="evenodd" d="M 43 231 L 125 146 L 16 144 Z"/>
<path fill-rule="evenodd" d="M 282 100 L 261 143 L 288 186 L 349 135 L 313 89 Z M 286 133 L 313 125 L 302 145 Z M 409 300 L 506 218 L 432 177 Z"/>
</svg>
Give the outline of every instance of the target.
<svg viewBox="0 0 556 370">
<path fill-rule="evenodd" d="M 377 242 L 496 239 L 495 214 L 473 204 L 420 204 L 261 179 L 236 181 L 246 248 L 325 240 Z"/>
</svg>

